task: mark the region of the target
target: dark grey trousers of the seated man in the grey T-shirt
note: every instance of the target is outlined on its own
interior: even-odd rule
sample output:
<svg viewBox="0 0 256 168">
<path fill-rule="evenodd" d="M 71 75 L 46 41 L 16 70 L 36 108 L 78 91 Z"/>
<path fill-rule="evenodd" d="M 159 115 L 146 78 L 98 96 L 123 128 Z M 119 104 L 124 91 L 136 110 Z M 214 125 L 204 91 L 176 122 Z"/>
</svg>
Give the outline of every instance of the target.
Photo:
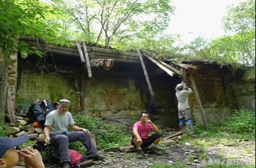
<svg viewBox="0 0 256 168">
<path fill-rule="evenodd" d="M 92 143 L 92 139 L 89 134 L 83 131 L 73 131 L 67 134 L 50 134 L 50 143 L 52 145 L 58 145 L 60 151 L 60 164 L 62 162 L 70 162 L 70 156 L 68 155 L 68 143 L 81 140 L 82 144 L 86 147 L 89 156 L 97 156 L 98 151 Z"/>
</svg>

